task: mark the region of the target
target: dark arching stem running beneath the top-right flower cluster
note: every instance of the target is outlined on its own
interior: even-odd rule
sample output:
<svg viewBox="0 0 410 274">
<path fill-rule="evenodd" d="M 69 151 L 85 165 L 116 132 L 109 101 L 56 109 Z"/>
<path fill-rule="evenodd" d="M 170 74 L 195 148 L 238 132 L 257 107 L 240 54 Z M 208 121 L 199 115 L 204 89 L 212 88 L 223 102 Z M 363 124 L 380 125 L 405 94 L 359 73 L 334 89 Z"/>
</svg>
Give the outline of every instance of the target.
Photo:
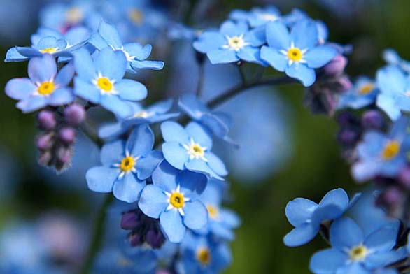
<svg viewBox="0 0 410 274">
<path fill-rule="evenodd" d="M 267 80 L 260 80 L 257 82 L 250 82 L 248 84 L 239 85 L 237 87 L 229 89 L 227 92 L 220 94 L 219 96 L 216 96 L 214 99 L 208 102 L 208 107 L 215 108 L 216 106 L 219 106 L 220 104 L 224 103 L 228 99 L 236 96 L 237 94 L 245 91 L 246 89 L 250 89 L 251 87 L 260 87 L 264 85 L 282 85 L 282 84 L 290 84 L 294 82 L 297 82 L 297 81 L 293 78 L 289 78 L 288 76 L 284 76 L 284 77 L 282 76 L 282 77 L 271 78 Z"/>
</svg>

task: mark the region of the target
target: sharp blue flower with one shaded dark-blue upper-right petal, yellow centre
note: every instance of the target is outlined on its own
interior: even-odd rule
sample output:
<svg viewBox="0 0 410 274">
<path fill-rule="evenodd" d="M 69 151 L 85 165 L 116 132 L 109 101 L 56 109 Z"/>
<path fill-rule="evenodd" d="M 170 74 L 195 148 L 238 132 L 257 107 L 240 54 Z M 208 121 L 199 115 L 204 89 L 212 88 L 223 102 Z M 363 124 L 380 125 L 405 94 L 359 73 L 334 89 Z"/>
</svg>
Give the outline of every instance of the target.
<svg viewBox="0 0 410 274">
<path fill-rule="evenodd" d="M 181 243 L 186 228 L 201 229 L 207 222 L 206 208 L 198 200 L 205 185 L 204 175 L 178 171 L 164 161 L 153 173 L 153 185 L 143 189 L 138 205 L 148 217 L 160 219 L 171 243 Z"/>
</svg>

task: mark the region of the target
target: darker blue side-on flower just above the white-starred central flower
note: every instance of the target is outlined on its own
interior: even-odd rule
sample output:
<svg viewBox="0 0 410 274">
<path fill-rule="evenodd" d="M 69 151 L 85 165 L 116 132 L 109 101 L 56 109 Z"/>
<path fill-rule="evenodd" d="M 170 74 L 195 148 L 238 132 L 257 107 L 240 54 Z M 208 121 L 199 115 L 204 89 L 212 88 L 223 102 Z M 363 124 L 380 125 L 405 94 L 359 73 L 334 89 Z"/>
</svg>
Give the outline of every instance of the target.
<svg viewBox="0 0 410 274">
<path fill-rule="evenodd" d="M 213 135 L 225 140 L 227 143 L 236 145 L 228 136 L 228 131 L 232 126 L 232 120 L 229 115 L 211 111 L 194 94 L 183 94 L 178 101 L 178 106 L 192 120 L 201 123 L 209 129 Z"/>
</svg>

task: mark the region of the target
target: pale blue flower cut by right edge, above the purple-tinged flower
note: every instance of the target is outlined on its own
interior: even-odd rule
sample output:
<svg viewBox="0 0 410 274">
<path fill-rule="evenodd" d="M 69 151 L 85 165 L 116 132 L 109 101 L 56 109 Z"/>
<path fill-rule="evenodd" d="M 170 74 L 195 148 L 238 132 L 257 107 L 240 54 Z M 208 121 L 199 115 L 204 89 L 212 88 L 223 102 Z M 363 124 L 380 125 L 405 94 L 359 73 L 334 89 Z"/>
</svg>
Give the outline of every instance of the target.
<svg viewBox="0 0 410 274">
<path fill-rule="evenodd" d="M 391 120 L 397 120 L 401 110 L 410 111 L 410 79 L 398 66 L 390 65 L 379 69 L 376 74 L 380 94 L 376 105 Z"/>
</svg>

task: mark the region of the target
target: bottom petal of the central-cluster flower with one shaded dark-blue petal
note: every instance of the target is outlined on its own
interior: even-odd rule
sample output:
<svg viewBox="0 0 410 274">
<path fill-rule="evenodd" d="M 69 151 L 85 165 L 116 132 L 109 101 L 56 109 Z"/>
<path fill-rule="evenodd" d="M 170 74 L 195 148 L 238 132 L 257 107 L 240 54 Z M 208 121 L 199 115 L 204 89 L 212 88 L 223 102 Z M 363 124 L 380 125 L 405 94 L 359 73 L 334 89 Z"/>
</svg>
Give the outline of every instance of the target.
<svg viewBox="0 0 410 274">
<path fill-rule="evenodd" d="M 168 210 L 160 215 L 162 230 L 171 243 L 181 243 L 185 236 L 185 226 L 177 210 Z"/>
</svg>

